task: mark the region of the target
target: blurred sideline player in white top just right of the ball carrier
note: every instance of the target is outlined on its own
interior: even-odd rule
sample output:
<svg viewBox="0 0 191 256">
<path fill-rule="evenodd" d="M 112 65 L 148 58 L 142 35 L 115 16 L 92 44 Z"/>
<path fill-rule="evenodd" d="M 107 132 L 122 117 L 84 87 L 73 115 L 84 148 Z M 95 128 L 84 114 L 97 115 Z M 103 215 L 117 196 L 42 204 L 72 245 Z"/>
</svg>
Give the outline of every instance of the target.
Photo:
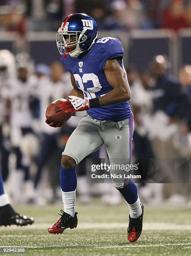
<svg viewBox="0 0 191 256">
<path fill-rule="evenodd" d="M 152 111 L 152 94 L 151 86 L 153 80 L 148 72 L 142 72 L 140 75 L 134 67 L 126 69 L 128 82 L 131 89 L 131 109 L 134 115 L 134 131 L 133 131 L 133 156 L 136 163 L 139 163 L 138 174 L 141 175 L 139 192 L 141 201 L 149 202 L 151 200 L 151 187 L 146 184 L 149 160 L 154 158 L 154 152 L 151 141 L 148 138 L 148 131 L 143 125 L 143 119 L 147 115 L 151 115 Z"/>
</svg>

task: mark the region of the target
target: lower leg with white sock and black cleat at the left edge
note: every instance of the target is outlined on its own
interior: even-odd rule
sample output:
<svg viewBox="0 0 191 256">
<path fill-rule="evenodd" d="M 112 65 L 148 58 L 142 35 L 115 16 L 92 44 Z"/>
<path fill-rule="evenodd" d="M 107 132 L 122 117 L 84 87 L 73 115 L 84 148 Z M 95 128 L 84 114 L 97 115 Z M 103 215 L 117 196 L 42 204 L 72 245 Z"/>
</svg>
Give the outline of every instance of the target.
<svg viewBox="0 0 191 256">
<path fill-rule="evenodd" d="M 17 225 L 26 226 L 33 224 L 33 218 L 27 218 L 15 212 L 11 207 L 8 195 L 5 194 L 3 188 L 3 178 L 0 173 L 0 226 Z"/>
</svg>

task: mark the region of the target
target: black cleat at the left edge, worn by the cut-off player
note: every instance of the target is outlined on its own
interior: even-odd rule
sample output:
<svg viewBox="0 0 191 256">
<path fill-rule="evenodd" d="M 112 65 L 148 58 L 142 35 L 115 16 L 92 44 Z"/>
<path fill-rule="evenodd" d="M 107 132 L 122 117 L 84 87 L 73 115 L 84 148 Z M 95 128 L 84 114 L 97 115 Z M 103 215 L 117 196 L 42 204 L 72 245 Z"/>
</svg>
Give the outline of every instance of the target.
<svg viewBox="0 0 191 256">
<path fill-rule="evenodd" d="M 26 216 L 20 215 L 10 204 L 0 207 L 0 226 L 26 226 L 33 224 L 33 218 L 27 218 Z"/>
</svg>

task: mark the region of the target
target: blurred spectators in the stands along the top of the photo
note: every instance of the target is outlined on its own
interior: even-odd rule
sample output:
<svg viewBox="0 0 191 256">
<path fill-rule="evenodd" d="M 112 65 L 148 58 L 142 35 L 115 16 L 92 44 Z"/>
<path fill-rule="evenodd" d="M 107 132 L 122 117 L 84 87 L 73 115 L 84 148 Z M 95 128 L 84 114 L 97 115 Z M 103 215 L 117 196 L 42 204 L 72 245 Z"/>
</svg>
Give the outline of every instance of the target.
<svg viewBox="0 0 191 256">
<path fill-rule="evenodd" d="M 92 16 L 99 30 L 191 27 L 190 0 L 1 0 L 0 30 L 55 31 L 76 12 Z"/>
</svg>

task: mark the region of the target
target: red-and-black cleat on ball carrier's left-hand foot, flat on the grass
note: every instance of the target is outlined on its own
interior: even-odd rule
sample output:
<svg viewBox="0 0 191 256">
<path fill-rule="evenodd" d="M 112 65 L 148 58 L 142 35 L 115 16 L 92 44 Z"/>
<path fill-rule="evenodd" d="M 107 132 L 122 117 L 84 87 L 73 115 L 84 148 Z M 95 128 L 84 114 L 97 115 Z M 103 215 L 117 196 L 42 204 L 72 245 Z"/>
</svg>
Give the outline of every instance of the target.
<svg viewBox="0 0 191 256">
<path fill-rule="evenodd" d="M 62 234 L 66 228 L 73 229 L 78 225 L 78 212 L 75 212 L 74 217 L 63 210 L 60 210 L 60 212 L 62 213 L 62 215 L 60 214 L 61 218 L 57 221 L 57 223 L 48 228 L 48 232 L 50 234 Z"/>
</svg>

